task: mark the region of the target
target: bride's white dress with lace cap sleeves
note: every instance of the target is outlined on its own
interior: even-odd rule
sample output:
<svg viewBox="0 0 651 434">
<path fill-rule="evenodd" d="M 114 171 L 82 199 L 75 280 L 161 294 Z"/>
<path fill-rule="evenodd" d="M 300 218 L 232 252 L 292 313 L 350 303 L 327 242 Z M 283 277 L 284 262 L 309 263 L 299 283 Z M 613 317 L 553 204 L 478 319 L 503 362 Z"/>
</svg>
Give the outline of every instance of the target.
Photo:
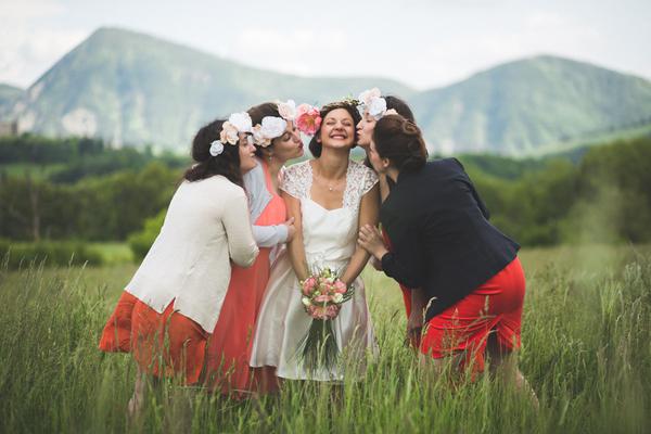
<svg viewBox="0 0 651 434">
<path fill-rule="evenodd" d="M 343 206 L 326 209 L 310 199 L 312 171 L 309 162 L 290 166 L 280 188 L 301 201 L 303 242 L 308 266 L 343 269 L 355 252 L 361 196 L 378 182 L 375 173 L 350 161 L 346 171 Z M 344 303 L 333 330 L 346 360 L 363 362 L 367 349 L 376 352 L 363 282 L 355 281 L 354 297 Z M 303 369 L 296 348 L 311 318 L 303 309 L 298 280 L 286 251 L 275 263 L 258 316 L 252 367 L 273 366 L 276 374 L 292 380 L 343 380 L 344 365 L 330 370 Z M 349 372 L 350 374 L 352 372 Z"/>
</svg>

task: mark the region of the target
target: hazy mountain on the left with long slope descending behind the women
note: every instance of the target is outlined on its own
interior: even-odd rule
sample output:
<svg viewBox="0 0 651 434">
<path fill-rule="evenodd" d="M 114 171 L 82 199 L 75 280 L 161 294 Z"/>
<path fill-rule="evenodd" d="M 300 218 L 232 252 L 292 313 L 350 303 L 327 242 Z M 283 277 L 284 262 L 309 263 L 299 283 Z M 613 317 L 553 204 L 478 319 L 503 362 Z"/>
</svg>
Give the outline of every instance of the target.
<svg viewBox="0 0 651 434">
<path fill-rule="evenodd" d="M 186 149 L 218 116 L 276 99 L 324 103 L 380 86 L 376 77 L 306 78 L 243 66 L 151 36 L 101 28 L 40 77 L 0 118 L 48 136 L 89 135 L 116 145 Z"/>
</svg>

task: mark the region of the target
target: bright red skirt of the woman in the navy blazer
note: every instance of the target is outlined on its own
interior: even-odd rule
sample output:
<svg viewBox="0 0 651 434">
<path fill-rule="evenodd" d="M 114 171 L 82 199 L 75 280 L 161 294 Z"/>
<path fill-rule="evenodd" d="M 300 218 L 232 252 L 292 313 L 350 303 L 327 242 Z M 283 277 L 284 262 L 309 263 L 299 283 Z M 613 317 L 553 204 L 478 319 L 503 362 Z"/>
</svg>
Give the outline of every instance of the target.
<svg viewBox="0 0 651 434">
<path fill-rule="evenodd" d="M 463 353 L 463 366 L 484 370 L 484 353 L 490 334 L 501 352 L 520 348 L 525 279 L 520 259 L 471 294 L 432 318 L 425 326 L 421 353 L 433 358 Z"/>
</svg>

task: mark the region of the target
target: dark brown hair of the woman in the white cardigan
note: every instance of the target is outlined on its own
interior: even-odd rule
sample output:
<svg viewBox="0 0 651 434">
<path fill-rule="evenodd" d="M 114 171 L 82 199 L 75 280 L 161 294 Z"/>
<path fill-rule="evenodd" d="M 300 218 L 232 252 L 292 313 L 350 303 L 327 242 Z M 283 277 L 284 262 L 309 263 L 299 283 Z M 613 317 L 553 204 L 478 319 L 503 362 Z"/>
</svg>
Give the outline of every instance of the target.
<svg viewBox="0 0 651 434">
<path fill-rule="evenodd" d="M 242 182 L 242 171 L 240 170 L 240 143 L 224 145 L 224 152 L 217 156 L 210 155 L 210 144 L 219 140 L 221 125 L 226 120 L 217 119 L 203 126 L 194 136 L 192 141 L 192 165 L 183 178 L 188 181 L 200 181 L 215 175 L 222 175 L 234 184 L 240 187 Z"/>
</svg>

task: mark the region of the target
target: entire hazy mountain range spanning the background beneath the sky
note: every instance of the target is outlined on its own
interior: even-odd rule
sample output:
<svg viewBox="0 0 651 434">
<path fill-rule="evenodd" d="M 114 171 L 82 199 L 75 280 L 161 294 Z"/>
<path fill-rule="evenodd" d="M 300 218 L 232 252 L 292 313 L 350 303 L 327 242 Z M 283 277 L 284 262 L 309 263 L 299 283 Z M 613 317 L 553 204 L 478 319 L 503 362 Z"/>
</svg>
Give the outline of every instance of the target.
<svg viewBox="0 0 651 434">
<path fill-rule="evenodd" d="M 148 35 L 100 28 L 28 89 L 0 86 L 0 119 L 47 136 L 184 150 L 196 129 L 264 101 L 323 104 L 379 87 L 406 99 L 442 153 L 529 155 L 582 135 L 651 123 L 651 82 L 541 55 L 438 89 L 381 77 L 263 71 Z M 560 146 L 557 145 L 560 143 Z"/>
</svg>

